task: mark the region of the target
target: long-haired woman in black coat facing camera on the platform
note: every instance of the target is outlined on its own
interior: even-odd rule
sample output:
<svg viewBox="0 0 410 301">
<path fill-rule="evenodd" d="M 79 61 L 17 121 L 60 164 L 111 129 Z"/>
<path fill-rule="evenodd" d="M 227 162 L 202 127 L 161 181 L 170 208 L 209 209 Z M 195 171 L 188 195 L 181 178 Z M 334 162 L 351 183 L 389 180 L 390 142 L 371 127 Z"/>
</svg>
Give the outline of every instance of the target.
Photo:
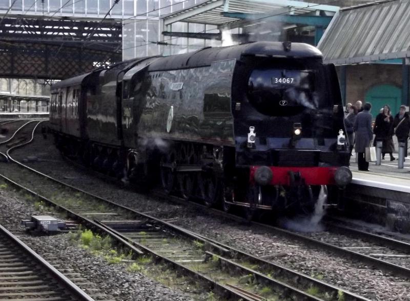
<svg viewBox="0 0 410 301">
<path fill-rule="evenodd" d="M 384 155 L 388 153 L 390 155 L 390 160 L 393 161 L 396 158 L 393 156 L 394 144 L 393 136 L 391 133 L 391 128 L 393 124 L 393 117 L 390 111 L 390 107 L 385 105 L 383 111 L 376 116 L 375 126 L 373 132 L 375 133 L 375 141 L 382 141 L 381 153 Z"/>
</svg>

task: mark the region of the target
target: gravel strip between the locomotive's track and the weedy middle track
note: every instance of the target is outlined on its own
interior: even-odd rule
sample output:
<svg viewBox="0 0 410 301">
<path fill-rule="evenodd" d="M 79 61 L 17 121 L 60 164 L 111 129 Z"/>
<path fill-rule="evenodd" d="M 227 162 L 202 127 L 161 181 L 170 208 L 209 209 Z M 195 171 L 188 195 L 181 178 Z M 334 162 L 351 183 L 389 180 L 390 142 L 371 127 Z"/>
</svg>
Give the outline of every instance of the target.
<svg viewBox="0 0 410 301">
<path fill-rule="evenodd" d="M 37 135 L 33 145 L 24 150 L 17 150 L 16 155 L 23 159 L 29 151 L 30 154 L 35 153 L 37 159 L 30 163 L 31 167 L 68 184 L 156 217 L 173 218 L 173 223 L 178 226 L 251 254 L 266 256 L 273 262 L 369 299 L 392 301 L 410 299 L 410 279 L 384 273 L 331 252 L 312 249 L 294 239 L 274 235 L 266 229 L 250 227 L 206 212 L 198 212 L 191 205 L 175 205 L 158 197 L 120 189 L 65 162 L 50 142 L 50 139 L 44 141 Z"/>
</svg>

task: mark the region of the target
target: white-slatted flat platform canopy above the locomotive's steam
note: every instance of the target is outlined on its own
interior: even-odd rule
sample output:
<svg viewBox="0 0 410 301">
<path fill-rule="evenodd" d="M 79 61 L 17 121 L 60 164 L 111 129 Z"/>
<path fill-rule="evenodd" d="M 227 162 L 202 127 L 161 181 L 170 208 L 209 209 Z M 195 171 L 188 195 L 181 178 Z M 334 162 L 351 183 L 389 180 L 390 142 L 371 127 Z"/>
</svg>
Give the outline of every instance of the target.
<svg viewBox="0 0 410 301">
<path fill-rule="evenodd" d="M 252 22 L 257 18 L 271 18 L 273 21 L 283 23 L 302 22 L 316 25 L 317 22 L 321 22 L 319 21 L 320 16 L 332 17 L 338 10 L 338 6 L 291 0 L 209 0 L 165 15 L 161 19 L 163 19 L 164 26 L 176 22 L 187 22 L 237 28 L 244 22 Z M 318 13 L 320 11 L 321 14 Z M 291 18 L 284 19 L 287 16 Z M 311 18 L 301 20 L 296 19 L 296 16 Z"/>
</svg>

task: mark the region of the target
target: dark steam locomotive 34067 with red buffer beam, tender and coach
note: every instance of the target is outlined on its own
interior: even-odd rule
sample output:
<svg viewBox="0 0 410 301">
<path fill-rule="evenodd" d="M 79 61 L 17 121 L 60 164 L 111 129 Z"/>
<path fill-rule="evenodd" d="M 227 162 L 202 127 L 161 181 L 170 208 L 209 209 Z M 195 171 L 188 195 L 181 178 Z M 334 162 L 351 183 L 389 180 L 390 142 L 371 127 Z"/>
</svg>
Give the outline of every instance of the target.
<svg viewBox="0 0 410 301">
<path fill-rule="evenodd" d="M 99 171 L 224 210 L 310 210 L 321 187 L 333 198 L 352 179 L 336 71 L 307 44 L 98 68 L 52 86 L 50 129 L 61 151 Z"/>
</svg>

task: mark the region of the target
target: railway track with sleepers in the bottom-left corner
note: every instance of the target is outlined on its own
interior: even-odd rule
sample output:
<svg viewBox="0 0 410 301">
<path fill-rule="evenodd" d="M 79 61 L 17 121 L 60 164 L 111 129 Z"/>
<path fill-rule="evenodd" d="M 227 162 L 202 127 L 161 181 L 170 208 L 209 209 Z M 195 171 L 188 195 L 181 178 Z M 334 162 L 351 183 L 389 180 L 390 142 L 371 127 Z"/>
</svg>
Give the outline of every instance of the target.
<svg viewBox="0 0 410 301">
<path fill-rule="evenodd" d="M 2 225 L 0 299 L 93 300 Z"/>
</svg>

